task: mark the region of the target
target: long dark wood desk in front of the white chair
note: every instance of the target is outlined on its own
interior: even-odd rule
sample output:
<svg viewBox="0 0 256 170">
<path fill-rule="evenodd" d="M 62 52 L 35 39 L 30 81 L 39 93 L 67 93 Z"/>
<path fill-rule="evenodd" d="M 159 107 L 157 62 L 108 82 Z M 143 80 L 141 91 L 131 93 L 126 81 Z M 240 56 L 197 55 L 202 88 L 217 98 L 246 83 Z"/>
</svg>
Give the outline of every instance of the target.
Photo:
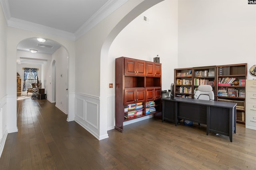
<svg viewBox="0 0 256 170">
<path fill-rule="evenodd" d="M 172 121 L 176 126 L 178 119 L 206 124 L 206 135 L 209 132 L 226 135 L 232 142 L 233 132 L 236 133 L 236 103 L 175 99 L 162 98 L 162 121 Z"/>
</svg>

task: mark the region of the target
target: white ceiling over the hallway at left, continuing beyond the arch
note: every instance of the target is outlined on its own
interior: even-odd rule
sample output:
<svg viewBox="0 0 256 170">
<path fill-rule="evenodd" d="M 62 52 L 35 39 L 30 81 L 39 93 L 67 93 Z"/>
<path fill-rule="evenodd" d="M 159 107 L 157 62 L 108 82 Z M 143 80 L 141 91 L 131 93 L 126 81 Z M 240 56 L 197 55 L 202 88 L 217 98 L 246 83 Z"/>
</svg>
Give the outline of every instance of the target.
<svg viewBox="0 0 256 170">
<path fill-rule="evenodd" d="M 7 25 L 76 40 L 128 0 L 0 0 Z M 17 49 L 53 54 L 60 45 L 35 38 L 21 41 Z M 36 55 L 35 55 L 36 56 Z M 36 59 L 35 59 L 36 60 Z"/>
</svg>

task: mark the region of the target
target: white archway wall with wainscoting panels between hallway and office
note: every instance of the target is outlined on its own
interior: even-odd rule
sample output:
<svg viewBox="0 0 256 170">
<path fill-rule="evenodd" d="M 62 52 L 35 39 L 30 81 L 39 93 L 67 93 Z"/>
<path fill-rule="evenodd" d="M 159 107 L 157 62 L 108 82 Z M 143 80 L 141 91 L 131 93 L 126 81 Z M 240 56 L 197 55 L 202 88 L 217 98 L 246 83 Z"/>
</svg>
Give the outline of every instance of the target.
<svg viewBox="0 0 256 170">
<path fill-rule="evenodd" d="M 107 60 L 112 35 L 160 1 L 130 0 L 76 41 L 75 120 L 97 139 L 108 137 L 107 70 L 112 68 Z"/>
</svg>

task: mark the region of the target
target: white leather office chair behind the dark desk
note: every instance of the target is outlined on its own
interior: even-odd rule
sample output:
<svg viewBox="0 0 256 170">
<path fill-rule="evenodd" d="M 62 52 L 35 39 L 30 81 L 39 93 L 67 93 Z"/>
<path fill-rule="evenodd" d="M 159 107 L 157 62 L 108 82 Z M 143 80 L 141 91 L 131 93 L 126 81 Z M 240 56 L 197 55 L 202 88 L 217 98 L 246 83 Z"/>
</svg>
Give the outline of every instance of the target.
<svg viewBox="0 0 256 170">
<path fill-rule="evenodd" d="M 194 95 L 195 99 L 200 100 L 214 100 L 214 93 L 212 91 L 212 86 L 210 85 L 200 85 L 198 90 Z"/>
</svg>

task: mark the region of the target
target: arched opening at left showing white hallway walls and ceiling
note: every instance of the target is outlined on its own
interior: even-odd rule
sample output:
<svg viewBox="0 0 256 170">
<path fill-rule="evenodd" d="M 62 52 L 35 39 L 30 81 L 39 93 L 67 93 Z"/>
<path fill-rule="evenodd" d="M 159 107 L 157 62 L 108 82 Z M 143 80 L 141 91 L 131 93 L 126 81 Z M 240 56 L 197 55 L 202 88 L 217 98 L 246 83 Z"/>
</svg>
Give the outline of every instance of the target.
<svg viewBox="0 0 256 170">
<path fill-rule="evenodd" d="M 35 49 L 31 53 L 28 49 Z M 20 41 L 17 46 L 17 72 L 21 68 L 38 68 L 38 80 L 47 94 L 47 100 L 68 114 L 68 51 L 56 41 L 38 42 L 36 37 Z M 58 76 L 57 76 L 58 75 Z M 58 88 L 56 88 L 58 86 Z M 24 92 L 26 93 L 26 92 Z"/>
</svg>

